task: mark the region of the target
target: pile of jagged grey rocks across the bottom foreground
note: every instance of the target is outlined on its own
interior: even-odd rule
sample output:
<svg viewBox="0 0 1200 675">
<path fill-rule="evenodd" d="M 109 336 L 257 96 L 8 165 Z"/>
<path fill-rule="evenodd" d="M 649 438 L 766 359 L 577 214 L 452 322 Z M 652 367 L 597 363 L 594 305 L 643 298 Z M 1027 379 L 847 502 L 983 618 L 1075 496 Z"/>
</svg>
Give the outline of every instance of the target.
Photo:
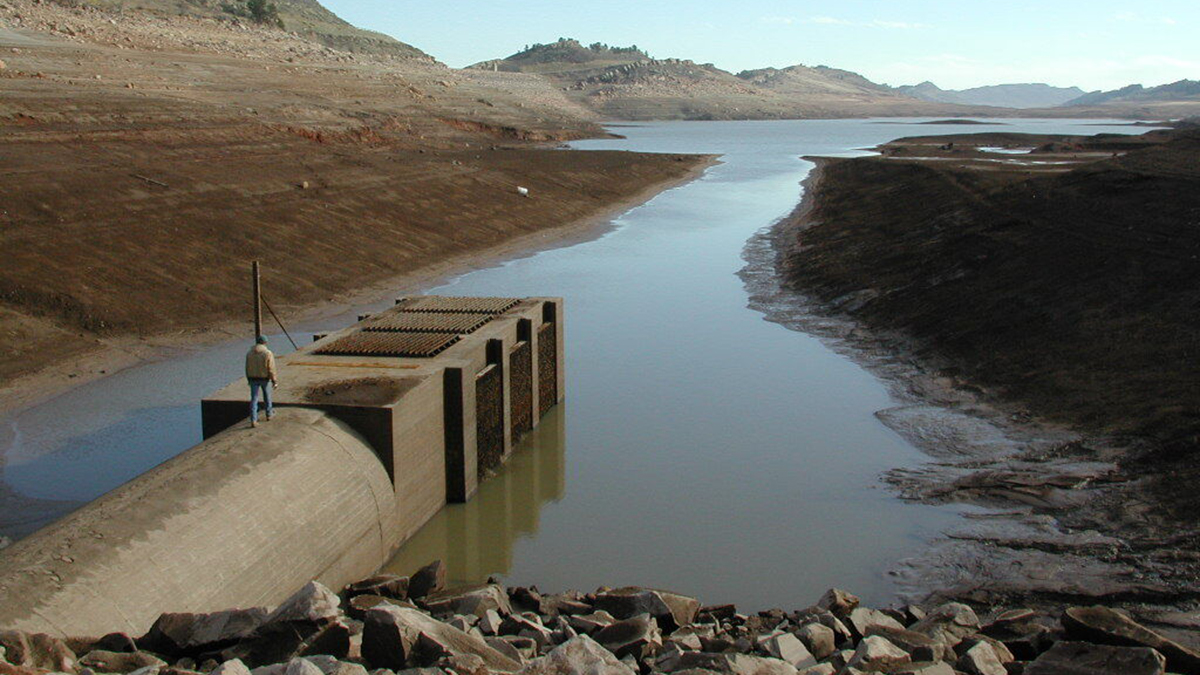
<svg viewBox="0 0 1200 675">
<path fill-rule="evenodd" d="M 77 656 L 78 655 L 78 656 Z M 679 593 L 446 590 L 445 567 L 335 595 L 311 583 L 274 611 L 163 614 L 139 638 L 0 631 L 0 675 L 1163 675 L 1200 655 L 1115 610 L 948 603 L 876 610 L 840 590 L 754 615 Z"/>
</svg>

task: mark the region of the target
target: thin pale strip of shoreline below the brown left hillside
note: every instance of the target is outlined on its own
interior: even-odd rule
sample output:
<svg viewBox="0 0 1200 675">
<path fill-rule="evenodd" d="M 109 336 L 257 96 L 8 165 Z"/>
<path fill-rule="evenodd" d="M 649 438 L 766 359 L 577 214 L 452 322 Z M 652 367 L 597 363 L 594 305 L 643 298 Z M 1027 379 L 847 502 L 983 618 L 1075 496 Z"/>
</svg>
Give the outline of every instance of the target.
<svg viewBox="0 0 1200 675">
<path fill-rule="evenodd" d="M 586 153 L 587 150 L 571 151 Z M 635 195 L 606 204 L 596 213 L 566 225 L 518 235 L 494 246 L 431 262 L 415 270 L 370 283 L 328 300 L 299 306 L 280 305 L 276 309 L 280 318 L 289 325 L 320 321 L 358 306 L 378 303 L 389 295 L 410 293 L 418 288 L 439 285 L 474 269 L 533 256 L 548 249 L 588 241 L 608 232 L 612 220 L 618 215 L 649 202 L 661 192 L 702 178 L 709 168 L 719 163 L 720 160 L 716 156 L 707 156 L 707 159 L 697 161 L 696 166 L 682 178 L 647 185 Z M 102 346 L 94 351 L 65 362 L 47 364 L 34 374 L 17 377 L 0 386 L 0 422 L 116 372 L 172 358 L 185 348 L 200 348 L 235 340 L 250 331 L 252 331 L 250 321 L 228 321 L 203 329 L 98 340 Z M 0 466 L 4 465 L 7 444 L 5 442 L 0 446 Z"/>
</svg>

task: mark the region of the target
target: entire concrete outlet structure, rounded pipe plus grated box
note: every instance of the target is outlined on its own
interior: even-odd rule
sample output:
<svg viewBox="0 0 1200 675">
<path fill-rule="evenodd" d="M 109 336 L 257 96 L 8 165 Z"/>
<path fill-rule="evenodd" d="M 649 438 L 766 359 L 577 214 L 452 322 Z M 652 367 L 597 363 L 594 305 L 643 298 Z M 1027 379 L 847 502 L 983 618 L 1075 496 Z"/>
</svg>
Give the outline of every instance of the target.
<svg viewBox="0 0 1200 675">
<path fill-rule="evenodd" d="M 280 358 L 257 429 L 230 383 L 204 442 L 4 551 L 0 628 L 138 634 L 373 573 L 563 399 L 562 318 L 560 298 L 402 298 Z"/>
</svg>

